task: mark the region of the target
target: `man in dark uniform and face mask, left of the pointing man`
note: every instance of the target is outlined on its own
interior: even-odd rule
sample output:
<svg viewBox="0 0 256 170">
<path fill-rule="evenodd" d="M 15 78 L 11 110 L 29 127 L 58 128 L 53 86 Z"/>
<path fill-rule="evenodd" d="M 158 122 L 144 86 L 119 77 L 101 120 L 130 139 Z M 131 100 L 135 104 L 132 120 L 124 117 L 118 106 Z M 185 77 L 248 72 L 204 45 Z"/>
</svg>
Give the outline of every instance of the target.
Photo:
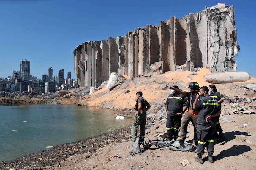
<svg viewBox="0 0 256 170">
<path fill-rule="evenodd" d="M 178 86 L 173 86 L 178 89 Z M 167 139 L 176 140 L 179 137 L 179 127 L 181 126 L 182 114 L 187 110 L 187 98 L 175 90 L 171 90 L 165 102 L 165 110 L 167 113 Z"/>
</svg>

